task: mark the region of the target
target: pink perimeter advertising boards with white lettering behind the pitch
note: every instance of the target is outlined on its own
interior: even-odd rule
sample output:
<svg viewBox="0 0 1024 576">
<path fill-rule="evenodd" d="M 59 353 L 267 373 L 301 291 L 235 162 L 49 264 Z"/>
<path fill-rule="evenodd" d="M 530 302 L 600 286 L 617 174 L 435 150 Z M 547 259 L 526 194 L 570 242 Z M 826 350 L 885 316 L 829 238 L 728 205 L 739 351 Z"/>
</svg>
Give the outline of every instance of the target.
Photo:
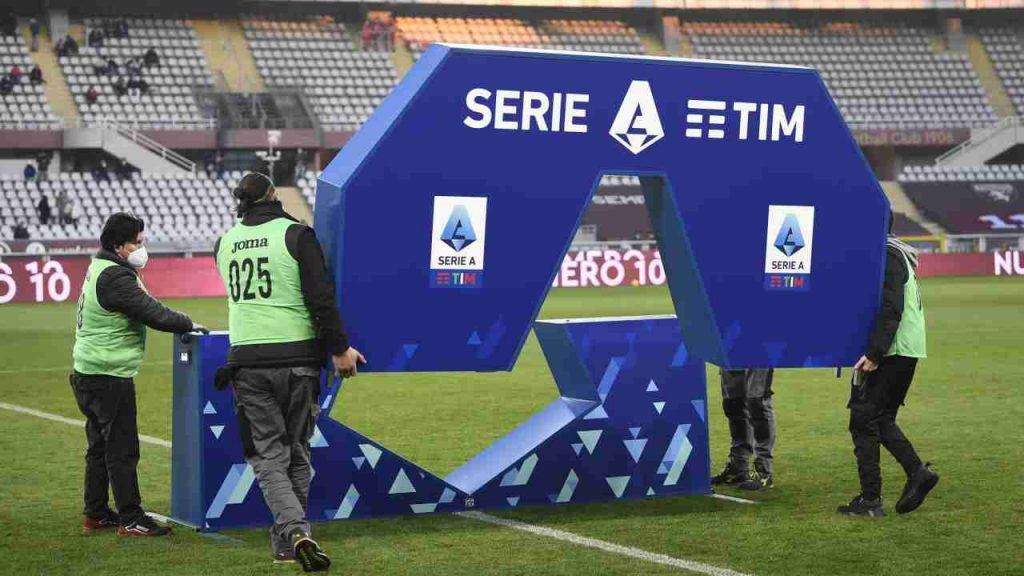
<svg viewBox="0 0 1024 576">
<path fill-rule="evenodd" d="M 0 304 L 78 299 L 89 257 L 6 256 L 0 259 Z M 922 254 L 921 277 L 1024 276 L 1024 251 Z M 224 296 L 213 256 L 150 258 L 142 280 L 158 298 Z M 660 286 L 657 250 L 582 250 L 565 255 L 553 283 L 561 288 Z"/>
</svg>

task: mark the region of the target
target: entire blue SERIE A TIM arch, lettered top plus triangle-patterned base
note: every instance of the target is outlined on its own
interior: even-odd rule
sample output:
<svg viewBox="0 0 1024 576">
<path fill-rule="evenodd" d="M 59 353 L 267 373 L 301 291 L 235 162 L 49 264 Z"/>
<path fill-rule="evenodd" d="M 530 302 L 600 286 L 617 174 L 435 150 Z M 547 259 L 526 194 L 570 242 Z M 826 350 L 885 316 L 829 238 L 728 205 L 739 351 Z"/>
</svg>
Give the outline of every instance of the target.
<svg viewBox="0 0 1024 576">
<path fill-rule="evenodd" d="M 602 174 L 640 176 L 677 316 L 536 318 Z M 816 72 L 434 45 L 317 182 L 366 371 L 511 370 L 532 328 L 559 398 L 445 478 L 328 414 L 309 516 L 710 491 L 705 362 L 837 366 L 880 299 L 888 202 Z M 225 334 L 175 349 L 172 516 L 266 524 Z"/>
</svg>

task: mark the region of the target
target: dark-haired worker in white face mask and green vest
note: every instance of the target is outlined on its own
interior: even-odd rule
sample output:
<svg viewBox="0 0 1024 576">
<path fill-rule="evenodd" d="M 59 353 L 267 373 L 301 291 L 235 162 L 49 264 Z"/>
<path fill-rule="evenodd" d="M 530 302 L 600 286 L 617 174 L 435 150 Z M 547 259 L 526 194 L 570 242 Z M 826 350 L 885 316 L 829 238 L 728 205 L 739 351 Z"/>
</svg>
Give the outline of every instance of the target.
<svg viewBox="0 0 1024 576">
<path fill-rule="evenodd" d="M 138 492 L 135 381 L 145 353 L 145 328 L 209 332 L 150 296 L 139 278 L 148 253 L 145 223 L 131 214 L 106 219 L 102 248 L 92 258 L 78 299 L 75 371 L 71 385 L 85 436 L 85 519 L 82 530 L 117 528 L 122 536 L 166 536 L 170 529 L 142 510 Z M 118 511 L 109 504 L 114 492 Z"/>
</svg>

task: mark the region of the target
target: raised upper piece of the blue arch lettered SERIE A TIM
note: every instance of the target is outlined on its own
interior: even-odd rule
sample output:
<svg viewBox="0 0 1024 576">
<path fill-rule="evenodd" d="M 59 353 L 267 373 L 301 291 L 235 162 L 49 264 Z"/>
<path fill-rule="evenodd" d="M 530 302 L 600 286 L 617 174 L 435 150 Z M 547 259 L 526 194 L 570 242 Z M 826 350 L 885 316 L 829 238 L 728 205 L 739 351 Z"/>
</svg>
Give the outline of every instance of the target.
<svg viewBox="0 0 1024 576">
<path fill-rule="evenodd" d="M 694 354 L 736 368 L 859 357 L 889 204 L 817 72 L 434 45 L 317 182 L 317 236 L 367 368 L 511 369 L 603 173 L 644 176 Z M 431 282 L 436 197 L 486 199 L 479 287 Z M 766 273 L 786 261 L 767 229 L 787 207 L 813 210 L 795 254 L 809 274 Z"/>
</svg>

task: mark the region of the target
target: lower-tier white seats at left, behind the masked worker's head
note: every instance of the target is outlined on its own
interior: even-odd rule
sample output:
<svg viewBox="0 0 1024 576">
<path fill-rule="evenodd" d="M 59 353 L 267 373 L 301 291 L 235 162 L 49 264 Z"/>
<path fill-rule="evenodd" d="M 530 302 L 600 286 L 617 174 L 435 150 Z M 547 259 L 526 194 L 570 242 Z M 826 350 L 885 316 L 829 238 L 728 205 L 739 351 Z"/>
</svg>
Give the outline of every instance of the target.
<svg viewBox="0 0 1024 576">
<path fill-rule="evenodd" d="M 14 224 L 25 222 L 33 240 L 96 239 L 108 215 L 130 210 L 146 219 L 151 241 L 209 247 L 234 221 L 230 191 L 242 173 L 225 176 L 230 177 L 135 173 L 131 179 L 112 175 L 97 181 L 91 173 L 61 172 L 56 179 L 27 182 L 0 174 L 0 238 L 11 238 Z M 76 221 L 41 223 L 40 197 L 55 208 L 60 194 L 74 203 Z"/>
</svg>

